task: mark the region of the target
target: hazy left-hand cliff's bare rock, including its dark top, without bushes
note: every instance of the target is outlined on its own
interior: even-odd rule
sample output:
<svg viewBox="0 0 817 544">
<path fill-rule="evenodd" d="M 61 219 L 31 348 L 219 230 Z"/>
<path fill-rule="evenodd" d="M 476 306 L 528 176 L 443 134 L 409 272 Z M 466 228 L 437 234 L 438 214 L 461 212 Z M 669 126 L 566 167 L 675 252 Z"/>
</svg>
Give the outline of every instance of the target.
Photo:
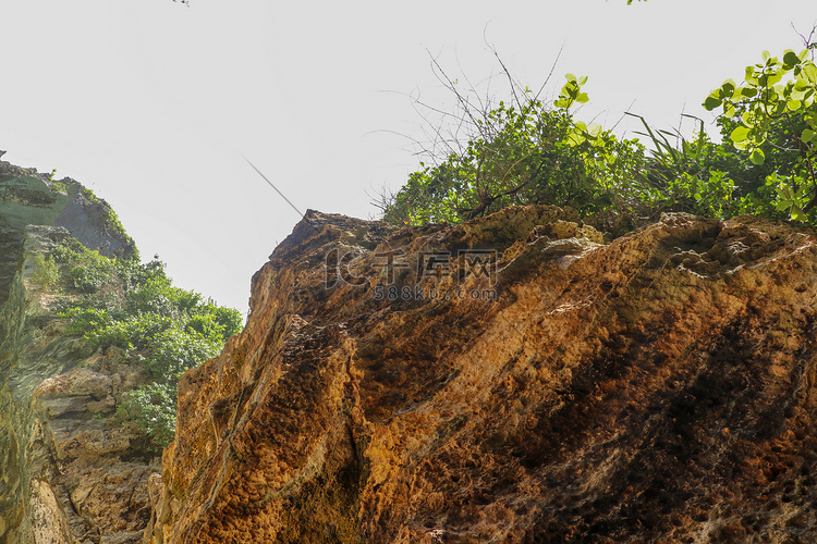
<svg viewBox="0 0 817 544">
<path fill-rule="evenodd" d="M 145 371 L 66 335 L 44 280 L 44 256 L 71 237 L 135 255 L 108 205 L 89 195 L 0 161 L 2 544 L 134 543 L 149 520 L 158 466 L 135 455 L 136 435 L 112 417 Z"/>
</svg>

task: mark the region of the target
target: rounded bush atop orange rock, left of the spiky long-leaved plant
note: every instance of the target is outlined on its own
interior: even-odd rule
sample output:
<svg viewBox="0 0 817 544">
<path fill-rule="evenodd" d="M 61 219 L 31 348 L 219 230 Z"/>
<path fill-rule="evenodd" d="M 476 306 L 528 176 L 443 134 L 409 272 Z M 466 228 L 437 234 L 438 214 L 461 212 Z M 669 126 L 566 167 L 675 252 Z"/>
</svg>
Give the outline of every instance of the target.
<svg viewBox="0 0 817 544">
<path fill-rule="evenodd" d="M 547 201 L 584 213 L 631 210 L 649 199 L 641 184 L 644 147 L 600 125 L 574 121 L 570 108 L 588 100 L 586 77 L 568 74 L 557 109 L 529 90 L 516 106 L 472 115 L 467 143 L 408 176 L 385 210 L 393 223 L 456 223 L 512 205 Z"/>
</svg>

